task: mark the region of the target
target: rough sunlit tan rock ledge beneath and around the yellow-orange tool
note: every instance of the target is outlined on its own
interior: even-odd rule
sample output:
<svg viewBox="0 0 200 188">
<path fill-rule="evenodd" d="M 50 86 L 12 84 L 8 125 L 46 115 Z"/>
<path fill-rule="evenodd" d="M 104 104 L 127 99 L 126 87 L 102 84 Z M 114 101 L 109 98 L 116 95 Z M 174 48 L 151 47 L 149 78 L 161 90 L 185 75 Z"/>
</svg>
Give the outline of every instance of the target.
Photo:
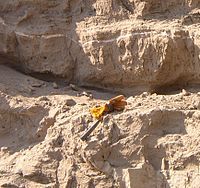
<svg viewBox="0 0 200 188">
<path fill-rule="evenodd" d="M 112 94 L 84 91 L 91 99 L 2 65 L 0 81 L 1 187 L 199 187 L 199 88 L 129 97 L 82 142 L 89 108 Z"/>
</svg>

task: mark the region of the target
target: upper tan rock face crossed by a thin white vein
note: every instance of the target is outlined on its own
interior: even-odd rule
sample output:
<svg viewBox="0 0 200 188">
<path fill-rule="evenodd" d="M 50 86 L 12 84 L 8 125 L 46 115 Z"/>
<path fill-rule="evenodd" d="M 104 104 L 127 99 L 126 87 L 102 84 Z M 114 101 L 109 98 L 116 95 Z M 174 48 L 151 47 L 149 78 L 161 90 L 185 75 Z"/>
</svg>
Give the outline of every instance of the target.
<svg viewBox="0 0 200 188">
<path fill-rule="evenodd" d="M 80 85 L 154 90 L 199 83 L 198 0 L 0 3 L 0 54 Z M 10 61 L 11 59 L 11 61 Z"/>
</svg>

